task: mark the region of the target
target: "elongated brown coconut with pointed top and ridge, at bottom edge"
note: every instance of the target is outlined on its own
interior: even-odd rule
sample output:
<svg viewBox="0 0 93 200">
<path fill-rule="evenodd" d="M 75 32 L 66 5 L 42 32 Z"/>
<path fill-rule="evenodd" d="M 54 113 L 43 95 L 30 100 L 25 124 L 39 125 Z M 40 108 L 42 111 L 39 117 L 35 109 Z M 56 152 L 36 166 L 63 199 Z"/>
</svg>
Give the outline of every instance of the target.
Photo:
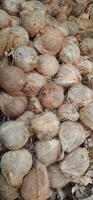
<svg viewBox="0 0 93 200">
<path fill-rule="evenodd" d="M 46 200 L 49 191 L 49 180 L 46 167 L 39 161 L 23 180 L 21 194 L 25 200 Z"/>
</svg>

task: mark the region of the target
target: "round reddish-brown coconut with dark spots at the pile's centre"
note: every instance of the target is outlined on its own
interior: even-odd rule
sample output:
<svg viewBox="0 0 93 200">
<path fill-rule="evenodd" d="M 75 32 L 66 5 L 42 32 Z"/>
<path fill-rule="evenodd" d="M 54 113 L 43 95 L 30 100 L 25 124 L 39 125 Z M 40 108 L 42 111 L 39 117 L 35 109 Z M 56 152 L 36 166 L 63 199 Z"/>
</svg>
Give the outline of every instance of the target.
<svg viewBox="0 0 93 200">
<path fill-rule="evenodd" d="M 58 108 L 64 101 L 64 90 L 53 82 L 47 83 L 41 89 L 39 98 L 45 108 Z"/>
</svg>

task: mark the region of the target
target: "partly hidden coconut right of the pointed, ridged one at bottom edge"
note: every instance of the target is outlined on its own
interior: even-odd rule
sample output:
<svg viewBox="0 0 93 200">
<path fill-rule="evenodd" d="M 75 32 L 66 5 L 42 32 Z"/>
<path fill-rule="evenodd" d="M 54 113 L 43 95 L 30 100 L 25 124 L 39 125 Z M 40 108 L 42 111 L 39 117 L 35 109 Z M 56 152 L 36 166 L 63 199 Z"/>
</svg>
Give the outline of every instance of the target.
<svg viewBox="0 0 93 200">
<path fill-rule="evenodd" d="M 64 188 L 69 182 L 69 178 L 63 175 L 58 164 L 48 166 L 48 176 L 51 188 Z"/>
</svg>

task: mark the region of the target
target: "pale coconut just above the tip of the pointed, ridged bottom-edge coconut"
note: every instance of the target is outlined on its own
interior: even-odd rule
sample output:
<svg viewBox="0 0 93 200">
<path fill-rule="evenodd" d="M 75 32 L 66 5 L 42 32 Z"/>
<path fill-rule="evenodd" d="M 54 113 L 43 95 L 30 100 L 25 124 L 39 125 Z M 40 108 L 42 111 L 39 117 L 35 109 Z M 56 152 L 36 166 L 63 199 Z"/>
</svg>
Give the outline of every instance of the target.
<svg viewBox="0 0 93 200">
<path fill-rule="evenodd" d="M 35 143 L 35 151 L 38 160 L 46 166 L 49 166 L 60 158 L 61 144 L 57 139 L 37 141 Z"/>
</svg>

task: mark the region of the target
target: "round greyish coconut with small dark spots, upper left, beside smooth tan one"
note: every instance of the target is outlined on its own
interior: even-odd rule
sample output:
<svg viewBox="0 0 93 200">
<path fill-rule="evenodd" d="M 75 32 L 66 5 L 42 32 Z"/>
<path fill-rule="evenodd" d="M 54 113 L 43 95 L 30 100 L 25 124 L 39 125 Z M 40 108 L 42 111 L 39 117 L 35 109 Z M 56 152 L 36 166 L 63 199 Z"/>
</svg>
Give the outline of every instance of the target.
<svg viewBox="0 0 93 200">
<path fill-rule="evenodd" d="M 33 47 L 21 46 L 14 52 L 14 61 L 17 67 L 29 72 L 38 66 L 39 57 Z"/>
</svg>

